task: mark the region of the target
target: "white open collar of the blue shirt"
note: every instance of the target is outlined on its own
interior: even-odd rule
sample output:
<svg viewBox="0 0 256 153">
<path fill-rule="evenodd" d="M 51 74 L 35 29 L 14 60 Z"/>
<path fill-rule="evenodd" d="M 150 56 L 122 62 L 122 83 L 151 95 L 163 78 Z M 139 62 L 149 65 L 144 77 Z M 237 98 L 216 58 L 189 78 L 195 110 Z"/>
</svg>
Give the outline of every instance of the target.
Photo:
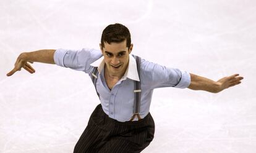
<svg viewBox="0 0 256 153">
<path fill-rule="evenodd" d="M 101 73 L 105 66 L 105 60 L 104 57 L 99 58 L 98 60 L 94 61 L 91 66 L 98 67 L 98 72 Z M 129 64 L 126 69 L 126 73 L 124 73 L 124 76 L 122 77 L 123 80 L 126 78 L 140 81 L 139 74 L 137 71 L 137 63 L 135 58 L 129 54 Z"/>
</svg>

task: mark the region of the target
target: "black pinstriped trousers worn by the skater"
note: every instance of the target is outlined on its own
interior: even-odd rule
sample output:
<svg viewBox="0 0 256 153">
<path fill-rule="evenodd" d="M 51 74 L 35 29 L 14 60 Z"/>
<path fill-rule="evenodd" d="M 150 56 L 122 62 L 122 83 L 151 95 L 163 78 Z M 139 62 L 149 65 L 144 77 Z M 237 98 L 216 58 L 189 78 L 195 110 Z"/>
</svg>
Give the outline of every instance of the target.
<svg viewBox="0 0 256 153">
<path fill-rule="evenodd" d="M 150 113 L 142 120 L 118 122 L 109 118 L 98 104 L 75 144 L 74 153 L 141 152 L 153 140 L 154 133 L 155 122 Z"/>
</svg>

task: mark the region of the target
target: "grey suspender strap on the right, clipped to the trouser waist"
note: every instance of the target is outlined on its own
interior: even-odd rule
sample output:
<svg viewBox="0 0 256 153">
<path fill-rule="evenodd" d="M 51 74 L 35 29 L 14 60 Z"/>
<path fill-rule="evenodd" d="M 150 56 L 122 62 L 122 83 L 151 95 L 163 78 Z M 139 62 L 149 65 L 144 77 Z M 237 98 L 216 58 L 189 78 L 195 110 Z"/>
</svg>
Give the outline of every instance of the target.
<svg viewBox="0 0 256 153">
<path fill-rule="evenodd" d="M 134 56 L 136 63 L 137 63 L 137 71 L 140 78 L 140 57 Z M 138 120 L 141 119 L 140 117 L 140 93 L 142 92 L 140 88 L 140 81 L 134 80 L 134 115 L 130 121 L 134 120 L 135 116 L 137 116 Z"/>
</svg>

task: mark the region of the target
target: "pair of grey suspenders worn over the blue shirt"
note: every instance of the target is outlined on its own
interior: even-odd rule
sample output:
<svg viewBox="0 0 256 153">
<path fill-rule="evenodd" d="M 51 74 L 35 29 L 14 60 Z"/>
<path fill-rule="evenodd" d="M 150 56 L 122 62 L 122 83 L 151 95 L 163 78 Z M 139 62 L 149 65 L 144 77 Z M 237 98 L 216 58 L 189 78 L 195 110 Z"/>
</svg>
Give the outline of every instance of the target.
<svg viewBox="0 0 256 153">
<path fill-rule="evenodd" d="M 137 63 L 137 71 L 139 74 L 139 78 L 140 78 L 140 57 L 137 57 L 135 55 L 132 55 Z M 96 88 L 96 82 L 98 79 L 98 68 L 94 67 L 93 68 L 93 72 L 91 75 L 91 79 L 93 82 L 93 85 L 95 86 L 95 90 L 97 92 L 98 97 L 100 98 L 100 94 L 97 91 Z M 140 112 L 140 93 L 142 92 L 141 88 L 140 88 L 140 81 L 134 80 L 134 111 L 133 111 L 133 116 L 130 119 L 130 121 L 134 120 L 135 116 L 137 116 L 138 120 L 141 120 L 139 112 Z"/>
</svg>

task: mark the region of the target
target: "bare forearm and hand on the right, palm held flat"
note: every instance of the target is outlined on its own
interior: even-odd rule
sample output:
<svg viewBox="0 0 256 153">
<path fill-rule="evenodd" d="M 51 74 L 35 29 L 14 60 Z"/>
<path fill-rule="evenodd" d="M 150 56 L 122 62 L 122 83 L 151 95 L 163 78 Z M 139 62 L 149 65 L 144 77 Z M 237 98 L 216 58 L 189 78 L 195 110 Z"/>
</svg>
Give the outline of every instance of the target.
<svg viewBox="0 0 256 153">
<path fill-rule="evenodd" d="M 238 76 L 239 74 L 234 74 L 232 76 L 223 77 L 222 79 L 215 82 L 205 77 L 190 73 L 191 82 L 188 88 L 192 90 L 205 90 L 207 92 L 218 93 L 225 88 L 241 84 L 241 80 L 244 79 L 244 77 Z"/>
</svg>

